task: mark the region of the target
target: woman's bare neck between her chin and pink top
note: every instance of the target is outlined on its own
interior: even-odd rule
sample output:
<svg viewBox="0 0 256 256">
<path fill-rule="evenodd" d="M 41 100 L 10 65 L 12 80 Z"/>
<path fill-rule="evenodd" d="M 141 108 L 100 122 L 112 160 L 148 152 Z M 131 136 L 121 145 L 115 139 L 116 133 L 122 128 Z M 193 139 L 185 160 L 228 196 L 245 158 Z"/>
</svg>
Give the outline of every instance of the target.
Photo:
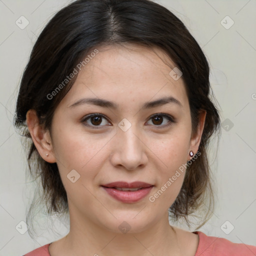
<svg viewBox="0 0 256 256">
<path fill-rule="evenodd" d="M 167 212 L 168 213 L 168 212 Z M 113 232 L 84 216 L 70 214 L 70 230 L 63 238 L 66 255 L 118 256 L 181 255 L 175 230 L 168 222 L 168 214 L 143 231 Z"/>
</svg>

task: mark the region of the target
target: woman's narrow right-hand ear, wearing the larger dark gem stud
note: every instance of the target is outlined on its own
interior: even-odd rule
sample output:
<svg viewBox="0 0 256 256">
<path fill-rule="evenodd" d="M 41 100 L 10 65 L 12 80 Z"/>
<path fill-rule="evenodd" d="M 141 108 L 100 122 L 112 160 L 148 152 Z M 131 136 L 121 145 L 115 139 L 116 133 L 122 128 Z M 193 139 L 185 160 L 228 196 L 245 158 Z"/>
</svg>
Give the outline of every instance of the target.
<svg viewBox="0 0 256 256">
<path fill-rule="evenodd" d="M 202 136 L 202 131 L 203 131 L 203 127 L 204 127 L 204 121 L 205 121 L 205 116 L 206 116 L 206 111 L 205 110 L 200 110 L 199 112 L 199 116 L 198 116 L 198 126 L 196 129 L 195 134 L 191 135 L 190 138 L 190 147 L 189 147 L 189 151 L 192 150 L 193 153 L 195 154 L 198 150 L 200 141 L 201 141 L 201 136 Z M 188 157 L 190 160 L 191 156 L 189 156 L 189 151 L 188 151 Z"/>
</svg>

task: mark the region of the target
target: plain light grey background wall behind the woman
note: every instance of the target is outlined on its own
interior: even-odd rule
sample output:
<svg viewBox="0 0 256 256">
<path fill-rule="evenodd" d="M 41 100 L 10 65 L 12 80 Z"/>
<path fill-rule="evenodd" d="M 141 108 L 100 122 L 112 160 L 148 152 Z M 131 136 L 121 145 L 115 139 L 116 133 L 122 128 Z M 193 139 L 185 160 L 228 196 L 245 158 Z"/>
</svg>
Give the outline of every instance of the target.
<svg viewBox="0 0 256 256">
<path fill-rule="evenodd" d="M 21 256 L 68 231 L 57 221 L 54 226 L 59 235 L 48 232 L 45 225 L 34 240 L 28 232 L 20 234 L 16 230 L 15 226 L 22 226 L 19 222 L 25 220 L 33 185 L 29 179 L 26 183 L 26 158 L 12 126 L 18 84 L 31 47 L 46 22 L 68 2 L 0 0 L 0 255 Z M 228 125 L 221 128 L 216 158 L 216 143 L 210 148 L 216 209 L 200 230 L 256 245 L 256 1 L 157 2 L 176 14 L 202 47 L 210 63 L 212 89 L 222 109 L 221 121 Z M 15 24 L 21 15 L 29 21 L 24 29 Z M 224 18 L 227 15 L 234 21 L 228 29 L 232 21 Z M 45 217 L 40 217 L 38 227 L 40 220 L 45 221 Z M 220 228 L 226 220 L 225 231 L 234 226 L 229 234 Z"/>
</svg>

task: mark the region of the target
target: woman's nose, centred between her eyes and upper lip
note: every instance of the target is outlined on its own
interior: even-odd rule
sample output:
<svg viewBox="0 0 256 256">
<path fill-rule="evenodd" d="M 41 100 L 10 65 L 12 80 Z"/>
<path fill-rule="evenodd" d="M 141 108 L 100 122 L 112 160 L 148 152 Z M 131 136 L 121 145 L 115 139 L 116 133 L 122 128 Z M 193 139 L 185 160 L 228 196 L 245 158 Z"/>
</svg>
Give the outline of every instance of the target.
<svg viewBox="0 0 256 256">
<path fill-rule="evenodd" d="M 147 146 L 135 125 L 131 125 L 126 131 L 118 128 L 112 143 L 110 162 L 113 166 L 123 166 L 133 170 L 146 164 Z"/>
</svg>

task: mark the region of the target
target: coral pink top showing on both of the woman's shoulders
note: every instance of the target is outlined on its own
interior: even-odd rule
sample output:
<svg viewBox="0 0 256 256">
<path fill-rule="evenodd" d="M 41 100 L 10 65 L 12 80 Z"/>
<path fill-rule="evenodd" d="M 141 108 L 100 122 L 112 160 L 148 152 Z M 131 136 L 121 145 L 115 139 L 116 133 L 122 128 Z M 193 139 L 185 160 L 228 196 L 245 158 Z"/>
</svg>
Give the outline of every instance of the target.
<svg viewBox="0 0 256 256">
<path fill-rule="evenodd" d="M 199 243 L 194 256 L 256 256 L 256 246 L 244 243 L 234 243 L 225 238 L 207 236 L 201 231 L 194 231 L 198 234 Z M 48 247 L 45 244 L 23 256 L 50 256 Z"/>
</svg>

